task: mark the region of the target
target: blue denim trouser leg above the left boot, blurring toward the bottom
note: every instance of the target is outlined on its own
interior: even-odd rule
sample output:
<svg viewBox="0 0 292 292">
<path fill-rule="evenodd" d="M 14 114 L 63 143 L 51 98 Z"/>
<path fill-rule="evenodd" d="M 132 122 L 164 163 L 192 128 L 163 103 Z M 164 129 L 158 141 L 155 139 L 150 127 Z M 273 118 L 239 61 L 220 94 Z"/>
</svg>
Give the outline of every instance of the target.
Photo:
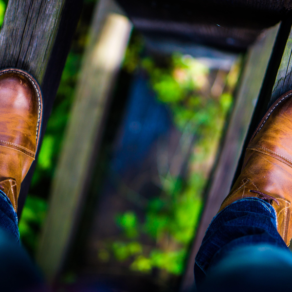
<svg viewBox="0 0 292 292">
<path fill-rule="evenodd" d="M 41 274 L 20 246 L 17 214 L 10 200 L 1 190 L 0 291 L 47 291 Z"/>
</svg>

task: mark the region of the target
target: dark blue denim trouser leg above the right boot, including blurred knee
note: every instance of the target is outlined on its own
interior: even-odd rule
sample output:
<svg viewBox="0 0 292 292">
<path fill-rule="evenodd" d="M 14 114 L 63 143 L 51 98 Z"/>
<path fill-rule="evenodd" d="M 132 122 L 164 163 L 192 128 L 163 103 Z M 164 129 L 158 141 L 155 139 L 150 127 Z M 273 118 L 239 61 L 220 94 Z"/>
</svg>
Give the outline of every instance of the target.
<svg viewBox="0 0 292 292">
<path fill-rule="evenodd" d="M 198 291 L 291 289 L 292 254 L 277 232 L 274 208 L 238 200 L 212 220 L 195 261 Z"/>
</svg>

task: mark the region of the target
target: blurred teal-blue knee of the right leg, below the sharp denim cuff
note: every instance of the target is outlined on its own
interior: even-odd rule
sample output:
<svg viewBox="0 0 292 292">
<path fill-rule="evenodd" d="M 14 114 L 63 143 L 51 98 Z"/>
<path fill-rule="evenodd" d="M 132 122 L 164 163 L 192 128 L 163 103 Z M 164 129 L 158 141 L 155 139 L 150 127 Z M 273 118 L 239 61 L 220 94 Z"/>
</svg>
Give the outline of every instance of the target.
<svg viewBox="0 0 292 292">
<path fill-rule="evenodd" d="M 199 292 L 290 291 L 292 255 L 270 244 L 238 246 L 210 267 Z"/>
</svg>

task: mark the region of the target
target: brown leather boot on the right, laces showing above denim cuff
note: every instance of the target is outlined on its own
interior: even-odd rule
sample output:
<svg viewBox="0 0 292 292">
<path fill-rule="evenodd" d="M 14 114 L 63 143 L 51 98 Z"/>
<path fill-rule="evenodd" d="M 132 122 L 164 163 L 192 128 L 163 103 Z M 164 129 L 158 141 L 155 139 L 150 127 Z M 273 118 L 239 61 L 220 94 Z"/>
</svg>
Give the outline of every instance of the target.
<svg viewBox="0 0 292 292">
<path fill-rule="evenodd" d="M 292 91 L 282 95 L 259 123 L 247 146 L 241 174 L 220 210 L 242 198 L 268 201 L 277 230 L 287 245 L 292 238 Z"/>
</svg>

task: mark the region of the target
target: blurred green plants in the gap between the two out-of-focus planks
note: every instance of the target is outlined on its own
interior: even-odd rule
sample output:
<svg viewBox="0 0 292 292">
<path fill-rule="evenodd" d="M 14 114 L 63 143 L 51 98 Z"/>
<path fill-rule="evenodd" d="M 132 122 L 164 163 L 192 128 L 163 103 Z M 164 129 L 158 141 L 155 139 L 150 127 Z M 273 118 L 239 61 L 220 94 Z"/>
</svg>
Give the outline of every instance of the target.
<svg viewBox="0 0 292 292">
<path fill-rule="evenodd" d="M 160 173 L 161 194 L 147 202 L 145 218 L 138 219 L 133 210 L 118 214 L 116 224 L 121 235 L 106 242 L 98 256 L 102 262 L 114 256 L 135 271 L 151 273 L 158 268 L 178 275 L 183 272 L 201 213 L 202 192 L 216 158 L 226 115 L 233 104 L 240 62 L 230 72 L 218 70 L 215 80 L 211 80 L 214 72 L 189 55 L 141 57 L 143 49 L 143 40 L 134 35 L 126 52 L 124 70 L 147 73 L 149 86 L 168 107 L 173 124 L 182 132 L 180 145 L 194 141 L 190 145 L 188 174 L 175 177 L 169 169 Z M 186 147 L 184 151 L 187 150 Z M 154 244 L 145 244 L 142 239 L 145 236 Z"/>
</svg>

